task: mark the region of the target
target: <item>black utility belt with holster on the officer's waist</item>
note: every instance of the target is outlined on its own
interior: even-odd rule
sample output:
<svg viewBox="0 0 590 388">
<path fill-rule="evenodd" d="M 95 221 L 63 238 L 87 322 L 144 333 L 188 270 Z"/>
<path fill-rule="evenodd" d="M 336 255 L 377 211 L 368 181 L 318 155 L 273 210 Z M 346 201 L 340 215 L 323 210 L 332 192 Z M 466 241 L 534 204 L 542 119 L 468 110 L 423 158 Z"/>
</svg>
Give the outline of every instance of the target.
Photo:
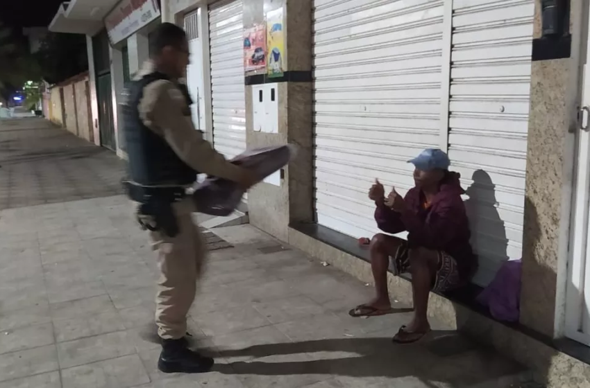
<svg viewBox="0 0 590 388">
<path fill-rule="evenodd" d="M 141 186 L 128 181 L 121 183 L 130 200 L 139 203 L 137 205 L 137 222 L 142 229 L 162 231 L 169 237 L 178 235 L 178 222 L 172 204 L 186 197 L 185 187 Z"/>
</svg>

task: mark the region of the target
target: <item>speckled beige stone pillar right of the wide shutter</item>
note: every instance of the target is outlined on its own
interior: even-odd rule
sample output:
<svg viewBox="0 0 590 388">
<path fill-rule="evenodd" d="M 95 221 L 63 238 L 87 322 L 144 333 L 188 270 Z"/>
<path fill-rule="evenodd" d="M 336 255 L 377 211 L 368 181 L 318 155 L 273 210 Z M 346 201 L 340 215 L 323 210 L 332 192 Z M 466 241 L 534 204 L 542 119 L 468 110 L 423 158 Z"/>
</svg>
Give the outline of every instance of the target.
<svg viewBox="0 0 590 388">
<path fill-rule="evenodd" d="M 539 8 L 537 1 L 534 38 L 541 37 Z M 532 62 L 521 324 L 550 338 L 564 335 L 582 13 L 582 0 L 571 0 L 568 58 L 535 60 L 533 52 Z"/>
</svg>

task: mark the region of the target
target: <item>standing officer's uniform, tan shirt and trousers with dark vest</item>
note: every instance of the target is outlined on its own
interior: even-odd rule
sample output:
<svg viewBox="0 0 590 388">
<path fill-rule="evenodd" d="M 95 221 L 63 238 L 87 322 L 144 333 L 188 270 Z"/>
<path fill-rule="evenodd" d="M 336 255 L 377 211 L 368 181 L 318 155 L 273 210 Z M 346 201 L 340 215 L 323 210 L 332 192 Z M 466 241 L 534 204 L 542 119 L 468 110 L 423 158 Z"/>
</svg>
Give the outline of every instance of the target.
<svg viewBox="0 0 590 388">
<path fill-rule="evenodd" d="M 178 80 L 154 70 L 151 62 L 135 77 L 126 103 L 125 136 L 130 180 L 139 186 L 186 188 L 198 172 L 235 180 L 242 169 L 215 151 L 190 116 L 187 96 Z M 158 281 L 155 322 L 164 340 L 182 338 L 186 316 L 203 269 L 205 250 L 198 227 L 192 221 L 196 211 L 192 197 L 172 203 L 175 233 L 151 231 L 162 275 Z"/>
</svg>

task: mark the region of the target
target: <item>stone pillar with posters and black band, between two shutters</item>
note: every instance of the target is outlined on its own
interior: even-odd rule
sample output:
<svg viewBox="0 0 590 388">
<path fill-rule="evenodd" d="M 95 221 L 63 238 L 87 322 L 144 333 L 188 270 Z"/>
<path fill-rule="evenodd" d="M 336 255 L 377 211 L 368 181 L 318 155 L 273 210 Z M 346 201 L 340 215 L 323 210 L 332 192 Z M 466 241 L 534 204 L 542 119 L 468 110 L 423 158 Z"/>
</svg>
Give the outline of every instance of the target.
<svg viewBox="0 0 590 388">
<path fill-rule="evenodd" d="M 244 28 L 264 21 L 265 10 L 280 7 L 289 77 L 277 82 L 278 134 L 253 131 L 252 86 L 246 86 L 246 140 L 248 148 L 290 143 L 298 146 L 298 153 L 285 168 L 280 186 L 262 183 L 252 188 L 248 213 L 255 227 L 287 241 L 290 223 L 313 220 L 312 1 L 244 0 Z M 269 82 L 274 80 L 264 81 Z"/>
</svg>

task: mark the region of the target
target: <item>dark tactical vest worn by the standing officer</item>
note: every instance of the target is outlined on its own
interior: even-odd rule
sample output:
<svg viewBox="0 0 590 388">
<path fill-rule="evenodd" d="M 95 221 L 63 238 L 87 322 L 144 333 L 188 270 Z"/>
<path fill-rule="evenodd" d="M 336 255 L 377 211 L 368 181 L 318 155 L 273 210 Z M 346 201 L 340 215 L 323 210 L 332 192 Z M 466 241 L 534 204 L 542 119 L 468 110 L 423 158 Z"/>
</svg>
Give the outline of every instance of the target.
<svg viewBox="0 0 590 388">
<path fill-rule="evenodd" d="M 151 73 L 141 80 L 131 82 L 129 98 L 124 106 L 124 136 L 128 155 L 128 174 L 131 180 L 143 186 L 193 184 L 198 172 L 185 164 L 170 145 L 153 130 L 144 125 L 138 106 L 144 88 L 157 80 L 168 80 L 162 73 Z M 182 90 L 182 88 L 180 88 Z M 186 91 L 183 90 L 186 94 Z M 187 106 L 189 98 L 187 98 Z M 186 109 L 190 114 L 190 109 Z M 172 128 L 174 130 L 174 128 Z"/>
</svg>

